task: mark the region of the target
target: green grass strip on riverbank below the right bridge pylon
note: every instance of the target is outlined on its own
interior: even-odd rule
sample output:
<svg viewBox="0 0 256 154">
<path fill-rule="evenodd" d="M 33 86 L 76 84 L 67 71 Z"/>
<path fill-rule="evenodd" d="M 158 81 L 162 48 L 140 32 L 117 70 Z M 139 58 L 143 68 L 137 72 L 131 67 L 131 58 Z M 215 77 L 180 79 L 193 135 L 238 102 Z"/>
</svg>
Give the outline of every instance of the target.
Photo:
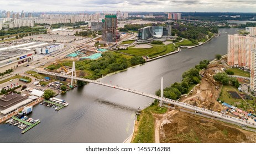
<svg viewBox="0 0 256 154">
<path fill-rule="evenodd" d="M 158 103 L 143 109 L 138 117 L 138 133 L 135 134 L 134 143 L 153 143 L 155 141 L 154 116 L 152 113 L 163 114 L 167 111 L 166 107 L 160 108 Z"/>
</svg>

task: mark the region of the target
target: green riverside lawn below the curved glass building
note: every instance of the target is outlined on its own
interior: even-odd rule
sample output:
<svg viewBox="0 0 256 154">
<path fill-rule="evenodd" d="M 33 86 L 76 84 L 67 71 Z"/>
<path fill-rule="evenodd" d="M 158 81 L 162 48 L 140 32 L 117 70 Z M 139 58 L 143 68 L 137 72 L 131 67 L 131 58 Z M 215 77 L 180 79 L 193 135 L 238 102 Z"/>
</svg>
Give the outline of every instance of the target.
<svg viewBox="0 0 256 154">
<path fill-rule="evenodd" d="M 169 44 L 166 46 L 160 45 L 152 45 L 151 48 L 135 48 L 128 47 L 128 50 L 119 50 L 124 53 L 129 53 L 135 56 L 149 56 L 151 58 L 156 56 L 161 56 L 169 52 L 175 51 L 175 47 L 173 44 Z"/>
</svg>

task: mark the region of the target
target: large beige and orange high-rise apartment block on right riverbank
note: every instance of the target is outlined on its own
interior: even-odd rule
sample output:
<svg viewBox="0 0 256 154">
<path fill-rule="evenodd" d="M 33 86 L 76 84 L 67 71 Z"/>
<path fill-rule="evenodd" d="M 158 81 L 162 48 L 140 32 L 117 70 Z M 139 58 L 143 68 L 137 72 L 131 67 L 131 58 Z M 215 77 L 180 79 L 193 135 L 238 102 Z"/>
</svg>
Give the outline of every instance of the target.
<svg viewBox="0 0 256 154">
<path fill-rule="evenodd" d="M 249 35 L 228 35 L 228 65 L 250 69 L 251 53 L 256 37 Z"/>
</svg>

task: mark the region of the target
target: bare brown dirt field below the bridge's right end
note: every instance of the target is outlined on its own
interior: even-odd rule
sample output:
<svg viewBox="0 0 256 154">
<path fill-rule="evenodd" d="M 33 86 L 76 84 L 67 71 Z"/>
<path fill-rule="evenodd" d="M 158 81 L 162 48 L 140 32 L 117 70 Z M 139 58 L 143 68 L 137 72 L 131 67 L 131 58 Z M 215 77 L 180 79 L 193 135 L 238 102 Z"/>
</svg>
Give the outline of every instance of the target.
<svg viewBox="0 0 256 154">
<path fill-rule="evenodd" d="M 256 142 L 256 133 L 189 113 L 177 112 L 166 117 L 163 123 L 160 127 L 160 142 Z"/>
</svg>

